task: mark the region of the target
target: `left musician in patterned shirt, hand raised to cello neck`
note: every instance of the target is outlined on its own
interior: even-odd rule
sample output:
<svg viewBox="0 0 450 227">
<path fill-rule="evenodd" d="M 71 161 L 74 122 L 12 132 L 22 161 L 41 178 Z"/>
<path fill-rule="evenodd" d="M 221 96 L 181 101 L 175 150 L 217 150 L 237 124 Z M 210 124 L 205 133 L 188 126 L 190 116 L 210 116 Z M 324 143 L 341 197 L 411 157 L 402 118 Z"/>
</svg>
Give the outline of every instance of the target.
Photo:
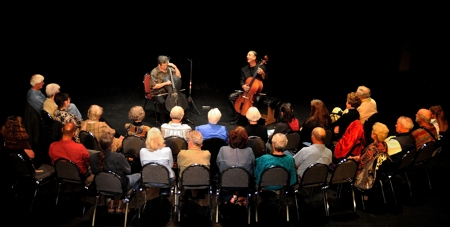
<svg viewBox="0 0 450 227">
<path fill-rule="evenodd" d="M 170 79 L 170 74 L 173 77 L 178 77 L 181 79 L 181 72 L 178 67 L 172 62 L 169 63 L 169 57 L 160 55 L 157 58 L 158 65 L 150 72 L 151 75 L 151 94 L 155 97 L 159 112 L 161 113 L 161 123 L 166 122 L 166 97 L 167 94 L 171 91 L 172 81 Z M 169 72 L 170 70 L 170 72 Z M 179 80 L 181 83 L 181 80 Z M 184 94 L 181 94 L 184 96 Z M 186 99 L 184 97 L 184 99 Z M 170 111 L 170 110 L 169 110 Z M 189 118 L 186 117 L 183 119 L 189 123 L 193 123 Z"/>
</svg>

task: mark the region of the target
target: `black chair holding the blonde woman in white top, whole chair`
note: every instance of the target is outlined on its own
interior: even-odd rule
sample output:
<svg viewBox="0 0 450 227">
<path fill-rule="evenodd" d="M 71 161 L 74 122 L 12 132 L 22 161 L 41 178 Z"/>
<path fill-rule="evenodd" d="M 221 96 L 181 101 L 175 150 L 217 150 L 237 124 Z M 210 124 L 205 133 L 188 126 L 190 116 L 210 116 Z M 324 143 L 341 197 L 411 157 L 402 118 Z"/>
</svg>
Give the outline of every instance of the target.
<svg viewBox="0 0 450 227">
<path fill-rule="evenodd" d="M 170 196 L 172 197 L 172 201 L 175 201 L 175 189 L 176 184 L 174 182 L 170 181 L 170 172 L 169 170 L 159 163 L 150 162 L 145 164 L 142 167 L 141 171 L 141 192 L 145 191 L 146 188 L 159 188 L 159 189 L 168 189 L 170 190 Z M 142 194 L 141 194 L 142 195 Z M 160 197 L 163 198 L 164 193 L 160 192 Z M 144 201 L 147 201 L 147 193 L 145 193 L 145 199 Z M 147 203 L 144 204 L 144 207 L 142 208 L 142 212 L 145 210 L 145 206 Z M 171 209 L 172 210 L 172 209 Z M 170 220 L 172 220 L 172 211 L 170 212 Z M 140 215 L 140 214 L 139 214 Z"/>
</svg>

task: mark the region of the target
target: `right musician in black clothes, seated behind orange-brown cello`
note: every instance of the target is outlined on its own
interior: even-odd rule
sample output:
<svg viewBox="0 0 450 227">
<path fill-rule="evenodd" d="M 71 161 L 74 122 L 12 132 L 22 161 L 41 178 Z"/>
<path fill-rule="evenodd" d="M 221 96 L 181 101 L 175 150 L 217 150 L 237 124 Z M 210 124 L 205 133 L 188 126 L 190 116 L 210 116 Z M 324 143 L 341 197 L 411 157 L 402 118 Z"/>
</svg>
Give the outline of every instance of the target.
<svg viewBox="0 0 450 227">
<path fill-rule="evenodd" d="M 246 84 L 246 81 L 248 82 L 248 78 L 253 77 L 253 75 L 256 73 L 255 80 L 264 81 L 268 78 L 268 73 L 265 65 L 261 65 L 260 67 L 256 68 L 257 62 L 257 53 L 253 50 L 250 50 L 247 53 L 247 65 L 242 67 L 241 69 L 241 88 L 243 91 L 248 92 L 250 89 L 250 86 Z M 238 99 L 239 95 L 242 94 L 242 91 L 236 91 L 230 94 L 229 100 L 231 103 L 231 109 L 235 115 L 233 121 L 231 124 L 236 124 L 239 122 L 240 118 L 243 116 L 241 113 L 238 113 L 234 107 L 236 100 Z M 253 103 L 254 106 L 257 106 L 257 103 L 259 102 L 260 97 L 257 95 L 256 100 Z"/>
</svg>

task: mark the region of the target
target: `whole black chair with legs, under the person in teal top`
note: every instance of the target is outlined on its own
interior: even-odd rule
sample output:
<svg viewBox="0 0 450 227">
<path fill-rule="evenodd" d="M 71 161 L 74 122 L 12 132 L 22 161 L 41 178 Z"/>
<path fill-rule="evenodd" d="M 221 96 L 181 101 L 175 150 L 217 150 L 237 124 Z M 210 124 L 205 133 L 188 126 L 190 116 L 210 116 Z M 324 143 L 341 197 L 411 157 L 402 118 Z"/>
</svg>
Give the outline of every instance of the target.
<svg viewBox="0 0 450 227">
<path fill-rule="evenodd" d="M 289 206 L 287 193 L 290 188 L 290 174 L 281 166 L 272 166 L 261 173 L 259 184 L 255 190 L 255 221 L 258 222 L 258 195 L 261 190 L 267 190 L 268 186 L 280 186 L 280 207 L 286 207 L 286 220 L 289 221 Z M 284 195 L 283 195 L 284 194 Z"/>
</svg>

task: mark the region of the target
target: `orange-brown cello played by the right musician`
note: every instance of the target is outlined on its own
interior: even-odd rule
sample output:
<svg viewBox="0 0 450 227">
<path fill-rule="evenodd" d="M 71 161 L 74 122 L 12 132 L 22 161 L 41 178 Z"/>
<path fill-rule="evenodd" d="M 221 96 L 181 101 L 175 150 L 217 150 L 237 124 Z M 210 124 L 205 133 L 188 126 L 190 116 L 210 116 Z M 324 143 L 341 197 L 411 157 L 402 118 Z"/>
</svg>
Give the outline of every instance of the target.
<svg viewBox="0 0 450 227">
<path fill-rule="evenodd" d="M 246 92 L 244 91 L 242 94 L 239 95 L 239 97 L 236 99 L 236 102 L 234 103 L 234 109 L 236 112 L 242 114 L 245 116 L 247 114 L 247 110 L 253 106 L 253 102 L 255 101 L 256 96 L 261 92 L 263 88 L 263 83 L 261 80 L 256 79 L 256 75 L 258 75 L 258 68 L 264 64 L 266 64 L 268 61 L 267 55 L 264 56 L 264 59 L 261 60 L 258 64 L 255 66 L 255 72 L 253 73 L 252 77 L 248 77 L 245 80 L 245 84 L 250 87 L 250 89 Z"/>
</svg>

